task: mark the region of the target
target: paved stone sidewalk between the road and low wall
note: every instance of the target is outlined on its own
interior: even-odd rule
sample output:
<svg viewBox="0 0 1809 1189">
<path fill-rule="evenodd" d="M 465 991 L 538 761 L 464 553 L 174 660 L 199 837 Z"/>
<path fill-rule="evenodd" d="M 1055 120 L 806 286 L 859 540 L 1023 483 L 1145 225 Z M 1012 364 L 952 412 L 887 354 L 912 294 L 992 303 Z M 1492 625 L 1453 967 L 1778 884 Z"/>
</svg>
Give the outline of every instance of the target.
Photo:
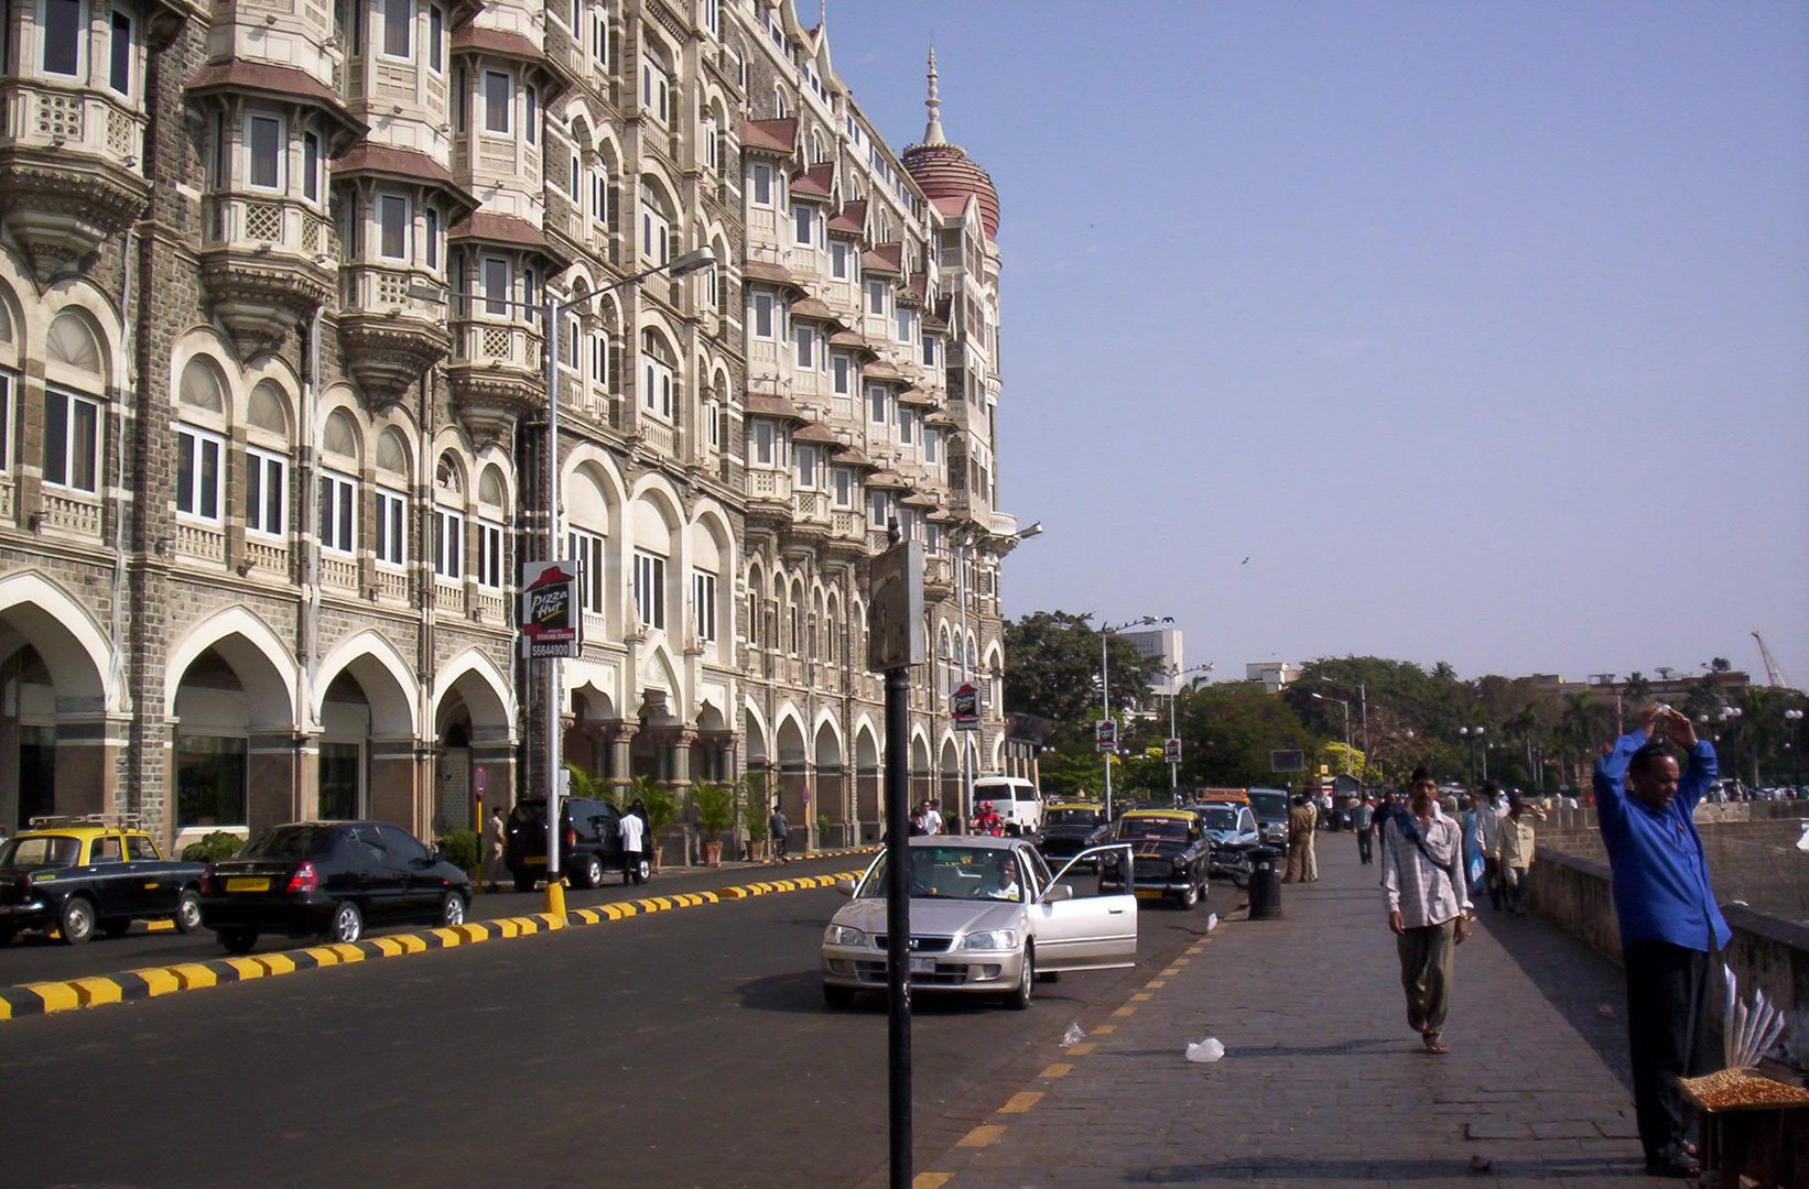
<svg viewBox="0 0 1809 1189">
<path fill-rule="evenodd" d="M 1679 1184 L 1644 1176 L 1617 967 L 1483 903 L 1456 950 L 1453 1052 L 1424 1053 L 1378 867 L 1348 833 L 1319 853 L 1322 878 L 1283 889 L 1284 920 L 1237 913 L 1147 970 L 959 1146 L 919 1156 L 917 1189 Z M 1225 1059 L 1187 1063 L 1207 1035 Z"/>
</svg>

